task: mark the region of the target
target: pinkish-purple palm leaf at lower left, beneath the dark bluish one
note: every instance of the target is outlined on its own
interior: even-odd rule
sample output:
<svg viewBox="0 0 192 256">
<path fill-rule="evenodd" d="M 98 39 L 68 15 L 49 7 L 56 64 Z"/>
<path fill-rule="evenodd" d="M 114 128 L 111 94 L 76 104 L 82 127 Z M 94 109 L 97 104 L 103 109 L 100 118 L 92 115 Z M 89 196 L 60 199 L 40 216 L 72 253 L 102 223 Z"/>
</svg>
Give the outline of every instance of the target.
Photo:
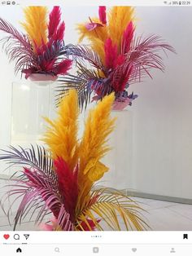
<svg viewBox="0 0 192 256">
<path fill-rule="evenodd" d="M 41 223 L 49 213 L 53 213 L 55 218 L 58 218 L 62 202 L 57 184 L 52 183 L 50 176 L 40 170 L 25 168 L 22 174 L 20 179 L 12 179 L 14 183 L 9 185 L 11 189 L 1 201 L 2 209 L 6 212 L 4 206 L 7 205 L 7 200 L 10 200 L 11 197 L 14 198 L 12 206 L 21 199 L 15 214 L 14 230 L 28 214 L 30 219 L 36 214 L 36 223 Z M 9 219 L 10 213 L 11 207 L 7 211 Z"/>
</svg>

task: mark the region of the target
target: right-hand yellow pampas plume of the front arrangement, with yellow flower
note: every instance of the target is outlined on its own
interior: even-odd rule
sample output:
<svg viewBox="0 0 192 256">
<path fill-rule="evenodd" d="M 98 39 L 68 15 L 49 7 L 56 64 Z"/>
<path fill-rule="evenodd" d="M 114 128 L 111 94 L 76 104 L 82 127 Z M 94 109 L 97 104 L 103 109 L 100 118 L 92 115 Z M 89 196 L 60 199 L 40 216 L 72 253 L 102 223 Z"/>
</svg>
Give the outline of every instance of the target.
<svg viewBox="0 0 192 256">
<path fill-rule="evenodd" d="M 111 118 L 111 107 L 115 95 L 107 95 L 98 105 L 89 111 L 85 121 L 85 130 L 81 139 L 79 158 L 79 196 L 76 213 L 80 213 L 89 201 L 89 192 L 94 184 L 107 172 L 107 166 L 101 158 L 111 149 L 107 146 L 107 136 L 114 129 L 116 118 Z"/>
</svg>

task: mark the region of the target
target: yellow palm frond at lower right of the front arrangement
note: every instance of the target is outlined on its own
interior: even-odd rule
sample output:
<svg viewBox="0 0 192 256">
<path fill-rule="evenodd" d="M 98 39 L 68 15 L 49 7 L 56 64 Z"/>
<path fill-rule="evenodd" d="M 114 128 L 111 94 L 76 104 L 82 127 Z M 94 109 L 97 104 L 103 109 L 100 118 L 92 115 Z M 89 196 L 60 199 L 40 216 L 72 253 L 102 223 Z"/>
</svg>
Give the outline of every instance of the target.
<svg viewBox="0 0 192 256">
<path fill-rule="evenodd" d="M 88 218 L 101 231 L 105 230 L 106 226 L 107 229 L 114 231 L 122 229 L 142 231 L 148 227 L 142 219 L 142 208 L 124 193 L 112 188 L 98 188 L 94 189 L 91 198 L 97 200 L 93 204 L 88 202 L 85 205 L 85 209 L 77 217 L 77 228 L 83 228 L 81 222 L 85 222 L 89 227 Z M 102 223 L 98 223 L 98 219 L 102 219 Z"/>
</svg>

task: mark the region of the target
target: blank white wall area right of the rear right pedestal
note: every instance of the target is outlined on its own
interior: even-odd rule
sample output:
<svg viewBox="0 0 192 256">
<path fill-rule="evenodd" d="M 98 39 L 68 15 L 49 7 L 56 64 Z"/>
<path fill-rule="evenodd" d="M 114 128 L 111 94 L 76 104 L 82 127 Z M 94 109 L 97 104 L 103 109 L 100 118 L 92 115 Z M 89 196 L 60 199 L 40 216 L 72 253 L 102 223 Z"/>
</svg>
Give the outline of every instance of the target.
<svg viewBox="0 0 192 256">
<path fill-rule="evenodd" d="M 157 33 L 177 55 L 164 57 L 165 73 L 135 86 L 133 188 L 192 198 L 192 9 L 137 8 L 138 33 Z"/>
</svg>

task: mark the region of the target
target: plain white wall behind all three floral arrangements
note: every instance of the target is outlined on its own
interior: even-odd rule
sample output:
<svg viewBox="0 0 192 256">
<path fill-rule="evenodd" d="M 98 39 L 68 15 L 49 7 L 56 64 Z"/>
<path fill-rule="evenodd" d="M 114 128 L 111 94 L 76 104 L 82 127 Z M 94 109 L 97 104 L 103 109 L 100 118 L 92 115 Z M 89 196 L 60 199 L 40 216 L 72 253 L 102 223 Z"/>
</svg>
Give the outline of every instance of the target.
<svg viewBox="0 0 192 256">
<path fill-rule="evenodd" d="M 76 43 L 77 22 L 97 14 L 97 7 L 65 7 L 65 42 Z M 192 198 L 192 8 L 137 7 L 137 34 L 162 36 L 177 55 L 164 55 L 165 73 L 134 85 L 139 97 L 131 107 L 132 168 L 127 188 L 164 196 Z M 20 7 L 0 8 L 0 16 L 20 29 Z M 4 35 L 0 33 L 0 38 Z M 14 66 L 0 51 L 0 148 L 10 143 L 11 82 Z M 19 103 L 18 103 L 19 104 Z M 126 153 L 126 152 L 125 152 Z M 116 179 L 116 183 L 122 180 Z"/>
</svg>

